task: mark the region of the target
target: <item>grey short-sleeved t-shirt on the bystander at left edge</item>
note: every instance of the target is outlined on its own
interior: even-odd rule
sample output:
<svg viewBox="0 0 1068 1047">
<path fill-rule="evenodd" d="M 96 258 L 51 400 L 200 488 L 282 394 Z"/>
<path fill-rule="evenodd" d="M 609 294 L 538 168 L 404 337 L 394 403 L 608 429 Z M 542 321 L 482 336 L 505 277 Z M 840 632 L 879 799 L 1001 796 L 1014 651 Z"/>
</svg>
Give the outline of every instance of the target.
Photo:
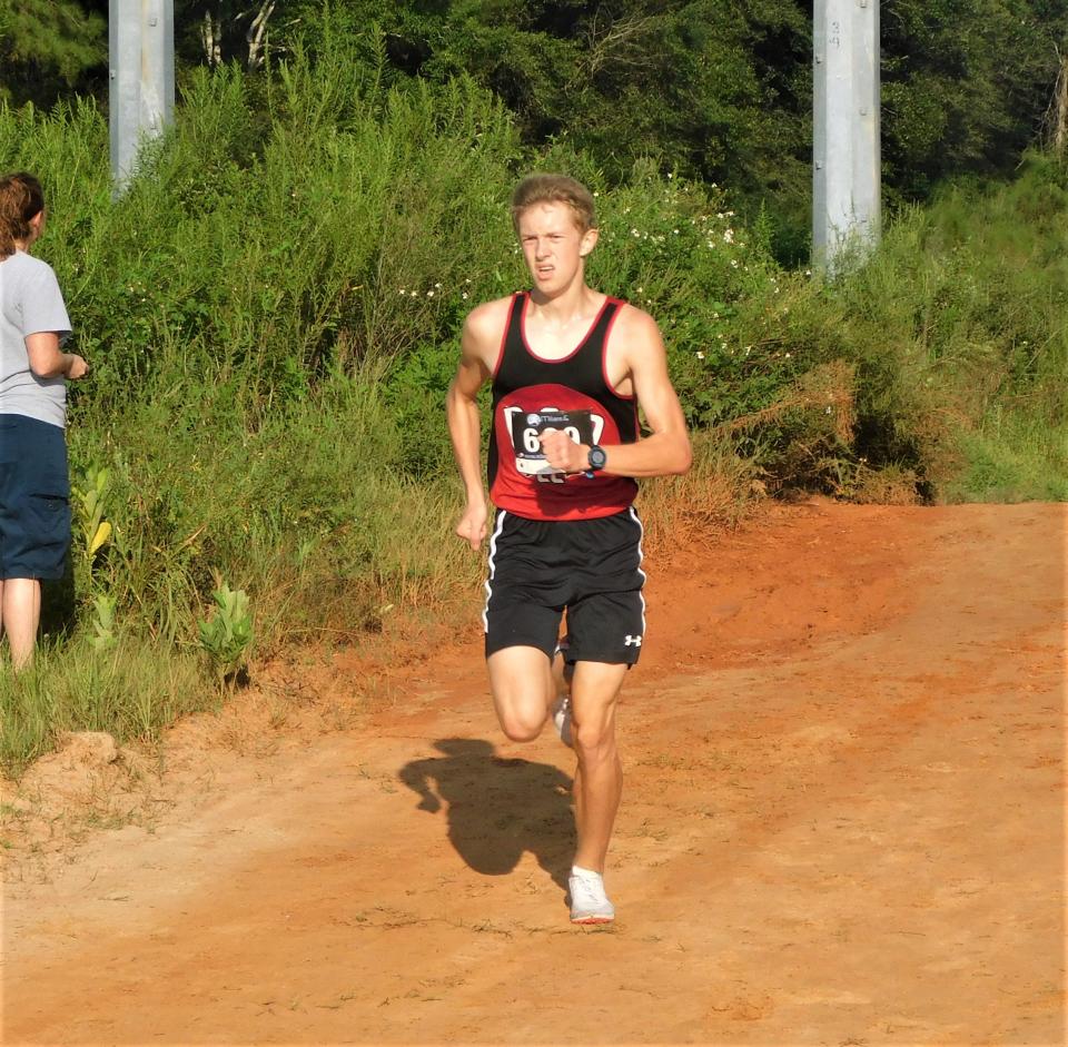
<svg viewBox="0 0 1068 1047">
<path fill-rule="evenodd" d="M 67 384 L 30 369 L 26 336 L 55 330 L 60 344 L 70 318 L 52 267 L 26 251 L 0 260 L 0 414 L 21 414 L 62 427 Z"/>
</svg>

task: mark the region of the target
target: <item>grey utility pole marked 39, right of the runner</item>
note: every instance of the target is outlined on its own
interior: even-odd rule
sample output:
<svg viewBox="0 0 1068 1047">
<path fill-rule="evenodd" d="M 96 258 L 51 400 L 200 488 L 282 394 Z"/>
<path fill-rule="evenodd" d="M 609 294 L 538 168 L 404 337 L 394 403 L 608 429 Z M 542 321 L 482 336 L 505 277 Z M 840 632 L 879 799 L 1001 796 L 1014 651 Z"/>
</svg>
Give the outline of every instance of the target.
<svg viewBox="0 0 1068 1047">
<path fill-rule="evenodd" d="M 815 0 L 812 260 L 833 273 L 879 243 L 879 0 Z"/>
</svg>

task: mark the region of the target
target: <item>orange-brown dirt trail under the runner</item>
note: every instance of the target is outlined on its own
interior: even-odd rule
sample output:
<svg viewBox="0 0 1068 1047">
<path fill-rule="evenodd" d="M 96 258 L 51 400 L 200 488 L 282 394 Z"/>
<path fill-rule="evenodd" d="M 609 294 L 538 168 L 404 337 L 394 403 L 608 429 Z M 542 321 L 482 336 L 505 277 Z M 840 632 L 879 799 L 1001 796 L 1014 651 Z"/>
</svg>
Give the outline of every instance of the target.
<svg viewBox="0 0 1068 1047">
<path fill-rule="evenodd" d="M 477 641 L 187 759 L 155 831 L 9 858 L 3 1041 L 1061 1044 L 1065 523 L 812 503 L 653 565 L 607 930 Z"/>
</svg>

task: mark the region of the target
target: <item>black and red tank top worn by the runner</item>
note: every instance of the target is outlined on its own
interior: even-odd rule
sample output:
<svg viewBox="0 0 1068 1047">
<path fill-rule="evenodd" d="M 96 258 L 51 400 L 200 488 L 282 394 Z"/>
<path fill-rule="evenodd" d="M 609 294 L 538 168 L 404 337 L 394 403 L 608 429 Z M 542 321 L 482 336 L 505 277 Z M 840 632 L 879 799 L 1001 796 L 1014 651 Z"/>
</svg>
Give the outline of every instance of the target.
<svg viewBox="0 0 1068 1047">
<path fill-rule="evenodd" d="M 637 405 L 621 396 L 605 372 L 609 335 L 623 306 L 606 298 L 574 352 L 543 359 L 526 340 L 530 295 L 512 298 L 508 322 L 493 372 L 493 429 L 487 472 L 497 508 L 530 520 L 590 520 L 623 512 L 637 494 L 629 476 L 548 471 L 540 433 L 562 428 L 577 443 L 632 444 L 637 439 Z"/>
</svg>

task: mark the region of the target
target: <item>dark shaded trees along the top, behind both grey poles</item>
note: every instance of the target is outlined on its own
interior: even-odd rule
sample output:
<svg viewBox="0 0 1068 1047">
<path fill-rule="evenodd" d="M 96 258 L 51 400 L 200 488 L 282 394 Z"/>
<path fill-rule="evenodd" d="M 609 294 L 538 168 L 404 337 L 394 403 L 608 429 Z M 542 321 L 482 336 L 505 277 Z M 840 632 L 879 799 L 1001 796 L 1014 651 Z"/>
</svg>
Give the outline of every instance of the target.
<svg viewBox="0 0 1068 1047">
<path fill-rule="evenodd" d="M 0 95 L 49 103 L 101 89 L 101 0 L 0 0 Z M 805 250 L 812 11 L 799 0 L 177 0 L 181 76 L 265 68 L 304 46 L 383 32 L 388 81 L 458 75 L 514 115 L 521 140 L 565 140 L 611 184 L 635 160 L 730 187 Z M 1008 175 L 1038 131 L 1068 42 L 1065 0 L 882 0 L 884 185 L 891 205 L 950 177 Z M 4 42 L 6 41 L 6 42 Z"/>
</svg>

